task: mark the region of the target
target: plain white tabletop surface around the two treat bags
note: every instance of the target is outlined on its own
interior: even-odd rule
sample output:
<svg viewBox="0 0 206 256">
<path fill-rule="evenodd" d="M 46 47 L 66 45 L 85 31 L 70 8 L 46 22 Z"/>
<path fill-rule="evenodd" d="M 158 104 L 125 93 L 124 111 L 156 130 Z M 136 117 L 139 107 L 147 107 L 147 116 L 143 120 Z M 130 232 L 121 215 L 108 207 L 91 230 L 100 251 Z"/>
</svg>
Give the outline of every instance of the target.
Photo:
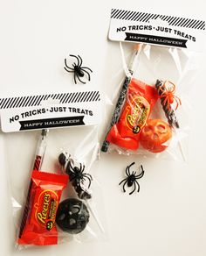
<svg viewBox="0 0 206 256">
<path fill-rule="evenodd" d="M 204 1 L 0 1 L 0 92 L 66 89 L 62 60 L 79 53 L 93 67 L 95 86 L 104 84 L 107 31 L 111 8 L 151 11 L 205 19 Z M 111 56 L 115 58 L 115 56 Z M 33 248 L 17 252 L 13 245 L 10 194 L 3 134 L 0 134 L 1 255 L 206 255 L 205 53 L 194 84 L 187 165 L 163 160 L 135 160 L 147 170 L 141 193 L 122 194 L 118 183 L 134 158 L 104 155 L 98 180 L 104 196 L 106 241 Z M 57 72 L 58 70 L 58 72 Z M 106 86 L 106 85 L 105 85 Z M 104 88 L 103 88 L 104 89 Z M 104 127 L 102 128 L 104 129 Z M 20 146 L 14 145 L 19 150 Z M 19 170 L 17 170 L 19 171 Z"/>
</svg>

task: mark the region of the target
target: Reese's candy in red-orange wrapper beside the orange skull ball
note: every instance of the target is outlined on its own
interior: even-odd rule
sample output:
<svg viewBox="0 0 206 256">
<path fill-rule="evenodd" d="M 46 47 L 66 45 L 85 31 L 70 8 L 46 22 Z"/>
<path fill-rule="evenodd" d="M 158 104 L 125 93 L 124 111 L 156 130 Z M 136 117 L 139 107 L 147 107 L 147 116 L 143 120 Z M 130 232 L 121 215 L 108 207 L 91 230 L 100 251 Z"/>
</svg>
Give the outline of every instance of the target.
<svg viewBox="0 0 206 256">
<path fill-rule="evenodd" d="M 139 147 L 141 129 L 158 99 L 154 87 L 132 79 L 127 89 L 127 99 L 120 118 L 107 134 L 106 140 L 128 150 Z"/>
</svg>

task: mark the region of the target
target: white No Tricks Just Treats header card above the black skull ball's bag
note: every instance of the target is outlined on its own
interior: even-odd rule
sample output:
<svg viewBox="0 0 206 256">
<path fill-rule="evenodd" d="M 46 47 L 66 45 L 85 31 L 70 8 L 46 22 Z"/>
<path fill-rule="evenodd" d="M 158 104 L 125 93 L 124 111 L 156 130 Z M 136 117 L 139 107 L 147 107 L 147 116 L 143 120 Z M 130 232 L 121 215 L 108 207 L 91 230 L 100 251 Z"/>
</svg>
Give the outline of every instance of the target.
<svg viewBox="0 0 206 256">
<path fill-rule="evenodd" d="M 99 124 L 100 91 L 0 99 L 3 132 Z"/>
</svg>

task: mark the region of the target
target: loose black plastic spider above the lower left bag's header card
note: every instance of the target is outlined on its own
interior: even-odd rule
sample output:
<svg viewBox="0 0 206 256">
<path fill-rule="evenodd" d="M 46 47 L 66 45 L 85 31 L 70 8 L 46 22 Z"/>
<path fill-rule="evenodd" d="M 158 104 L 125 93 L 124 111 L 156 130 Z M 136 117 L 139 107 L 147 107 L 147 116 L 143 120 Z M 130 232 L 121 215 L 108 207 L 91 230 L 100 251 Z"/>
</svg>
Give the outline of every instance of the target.
<svg viewBox="0 0 206 256">
<path fill-rule="evenodd" d="M 90 68 L 86 68 L 86 67 L 81 67 L 82 65 L 82 59 L 81 57 L 78 55 L 78 56 L 75 56 L 75 55 L 70 55 L 71 57 L 74 57 L 77 59 L 78 63 L 76 64 L 75 62 L 72 64 L 72 67 L 73 68 L 70 68 L 68 67 L 67 63 L 66 63 L 66 59 L 65 59 L 65 71 L 67 72 L 73 72 L 74 73 L 74 82 L 77 84 L 77 80 L 76 80 L 76 77 L 78 78 L 79 82 L 82 82 L 82 83 L 86 83 L 86 82 L 83 82 L 82 80 L 80 80 L 79 77 L 83 77 L 85 75 L 85 73 L 88 75 L 88 80 L 90 81 L 90 74 L 88 71 L 86 71 L 86 69 L 88 69 L 90 72 L 93 73 L 93 70 L 90 69 Z"/>
</svg>

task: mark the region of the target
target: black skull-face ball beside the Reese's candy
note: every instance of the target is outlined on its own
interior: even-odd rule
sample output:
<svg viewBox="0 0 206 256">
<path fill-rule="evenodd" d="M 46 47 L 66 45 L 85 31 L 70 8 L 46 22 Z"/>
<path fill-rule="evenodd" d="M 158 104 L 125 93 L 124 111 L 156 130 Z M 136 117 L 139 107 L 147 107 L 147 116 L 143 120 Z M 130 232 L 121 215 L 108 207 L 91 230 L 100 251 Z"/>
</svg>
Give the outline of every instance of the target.
<svg viewBox="0 0 206 256">
<path fill-rule="evenodd" d="M 89 222 L 86 204 L 76 198 L 68 198 L 58 205 L 56 223 L 62 231 L 78 234 Z"/>
</svg>

